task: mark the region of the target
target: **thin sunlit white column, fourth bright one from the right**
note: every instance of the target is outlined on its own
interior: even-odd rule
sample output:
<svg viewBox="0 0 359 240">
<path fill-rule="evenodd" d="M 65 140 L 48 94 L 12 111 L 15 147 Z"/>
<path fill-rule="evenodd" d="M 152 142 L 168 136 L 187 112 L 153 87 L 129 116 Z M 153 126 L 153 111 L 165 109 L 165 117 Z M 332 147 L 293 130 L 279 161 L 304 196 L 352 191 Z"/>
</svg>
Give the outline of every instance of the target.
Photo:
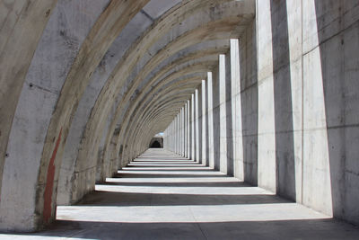
<svg viewBox="0 0 359 240">
<path fill-rule="evenodd" d="M 220 171 L 227 173 L 227 124 L 225 94 L 225 55 L 219 56 L 219 118 L 220 118 Z"/>
</svg>

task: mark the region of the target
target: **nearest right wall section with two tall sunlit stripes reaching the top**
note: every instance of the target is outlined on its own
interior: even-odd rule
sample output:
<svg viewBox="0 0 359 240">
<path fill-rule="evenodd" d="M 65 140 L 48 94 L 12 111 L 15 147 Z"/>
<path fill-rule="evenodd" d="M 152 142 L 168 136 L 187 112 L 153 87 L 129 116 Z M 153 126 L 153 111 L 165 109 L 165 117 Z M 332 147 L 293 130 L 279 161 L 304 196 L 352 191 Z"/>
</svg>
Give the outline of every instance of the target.
<svg viewBox="0 0 359 240">
<path fill-rule="evenodd" d="M 257 9 L 258 185 L 357 223 L 358 3 Z"/>
</svg>

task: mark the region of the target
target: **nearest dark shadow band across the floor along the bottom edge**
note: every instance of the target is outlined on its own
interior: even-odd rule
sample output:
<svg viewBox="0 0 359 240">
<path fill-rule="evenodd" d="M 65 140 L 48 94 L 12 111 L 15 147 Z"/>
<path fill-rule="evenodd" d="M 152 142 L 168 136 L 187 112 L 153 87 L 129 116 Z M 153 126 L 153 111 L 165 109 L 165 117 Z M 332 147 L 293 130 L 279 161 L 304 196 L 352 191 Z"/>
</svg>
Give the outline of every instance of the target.
<svg viewBox="0 0 359 240">
<path fill-rule="evenodd" d="M 358 239 L 358 229 L 334 219 L 125 223 L 57 220 L 31 236 L 82 239 Z M 4 235 L 6 236 L 6 235 Z M 13 237 L 26 237 L 18 234 Z M 10 236 L 12 237 L 12 236 Z M 9 238 L 10 238 L 9 237 Z"/>
</svg>

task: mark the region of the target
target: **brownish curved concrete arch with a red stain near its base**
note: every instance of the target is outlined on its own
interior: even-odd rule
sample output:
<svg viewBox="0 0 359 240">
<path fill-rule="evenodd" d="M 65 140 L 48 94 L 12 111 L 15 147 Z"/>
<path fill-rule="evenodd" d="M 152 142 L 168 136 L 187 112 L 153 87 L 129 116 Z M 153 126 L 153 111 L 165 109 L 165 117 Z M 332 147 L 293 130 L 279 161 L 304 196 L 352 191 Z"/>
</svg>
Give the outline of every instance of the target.
<svg viewBox="0 0 359 240">
<path fill-rule="evenodd" d="M 35 209 L 38 226 L 48 224 L 55 216 L 55 190 L 62 151 L 70 128 L 71 116 L 82 93 L 111 43 L 148 1 L 111 1 L 83 41 L 57 100 L 43 147 L 37 188 L 38 202 Z M 122 17 L 125 13 L 127 18 Z"/>
</svg>

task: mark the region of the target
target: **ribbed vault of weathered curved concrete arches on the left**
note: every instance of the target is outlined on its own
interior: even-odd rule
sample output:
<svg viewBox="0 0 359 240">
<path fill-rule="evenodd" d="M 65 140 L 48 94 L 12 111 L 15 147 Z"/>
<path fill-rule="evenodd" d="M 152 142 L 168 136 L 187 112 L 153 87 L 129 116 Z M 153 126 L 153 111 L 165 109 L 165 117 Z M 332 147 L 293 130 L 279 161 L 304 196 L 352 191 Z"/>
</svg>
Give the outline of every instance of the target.
<svg viewBox="0 0 359 240">
<path fill-rule="evenodd" d="M 57 182 L 57 199 L 74 202 L 93 189 L 99 164 L 106 177 L 148 147 L 255 15 L 253 0 L 10 2 L 0 3 L 0 23 L 13 29 L 0 29 L 0 169 L 24 158 L 38 166 L 29 184 L 44 222 Z M 32 152 L 13 154 L 19 131 Z"/>
</svg>

